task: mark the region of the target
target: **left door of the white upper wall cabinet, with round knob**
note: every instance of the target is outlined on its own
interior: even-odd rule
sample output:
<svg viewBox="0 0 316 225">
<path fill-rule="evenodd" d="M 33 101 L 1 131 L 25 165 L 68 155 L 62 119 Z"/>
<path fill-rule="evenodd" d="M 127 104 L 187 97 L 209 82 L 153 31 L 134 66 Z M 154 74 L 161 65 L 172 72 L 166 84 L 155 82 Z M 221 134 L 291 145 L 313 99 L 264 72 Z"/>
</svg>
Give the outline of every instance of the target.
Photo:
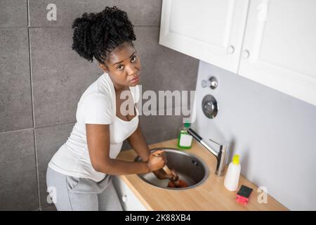
<svg viewBox="0 0 316 225">
<path fill-rule="evenodd" d="M 164 0 L 159 44 L 237 72 L 248 0 Z"/>
</svg>

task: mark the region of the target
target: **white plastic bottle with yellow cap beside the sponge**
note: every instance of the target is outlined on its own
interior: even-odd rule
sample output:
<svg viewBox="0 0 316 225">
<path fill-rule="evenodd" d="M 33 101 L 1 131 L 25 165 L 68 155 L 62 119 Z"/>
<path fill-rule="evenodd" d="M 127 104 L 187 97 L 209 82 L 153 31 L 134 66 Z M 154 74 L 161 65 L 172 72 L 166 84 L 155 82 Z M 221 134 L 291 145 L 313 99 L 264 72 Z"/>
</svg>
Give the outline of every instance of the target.
<svg viewBox="0 0 316 225">
<path fill-rule="evenodd" d="M 239 155 L 234 155 L 232 162 L 228 165 L 224 186 L 228 191 L 237 191 L 240 176 Z"/>
</svg>

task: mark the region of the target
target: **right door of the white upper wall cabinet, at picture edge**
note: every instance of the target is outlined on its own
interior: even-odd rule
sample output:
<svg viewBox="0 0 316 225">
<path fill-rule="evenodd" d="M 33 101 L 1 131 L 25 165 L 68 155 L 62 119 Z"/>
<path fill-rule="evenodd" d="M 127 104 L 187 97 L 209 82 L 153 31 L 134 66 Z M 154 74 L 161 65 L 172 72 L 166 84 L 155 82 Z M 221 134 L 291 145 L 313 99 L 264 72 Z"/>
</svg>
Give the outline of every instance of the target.
<svg viewBox="0 0 316 225">
<path fill-rule="evenodd" d="M 316 105 L 316 1 L 251 0 L 238 73 Z"/>
</svg>

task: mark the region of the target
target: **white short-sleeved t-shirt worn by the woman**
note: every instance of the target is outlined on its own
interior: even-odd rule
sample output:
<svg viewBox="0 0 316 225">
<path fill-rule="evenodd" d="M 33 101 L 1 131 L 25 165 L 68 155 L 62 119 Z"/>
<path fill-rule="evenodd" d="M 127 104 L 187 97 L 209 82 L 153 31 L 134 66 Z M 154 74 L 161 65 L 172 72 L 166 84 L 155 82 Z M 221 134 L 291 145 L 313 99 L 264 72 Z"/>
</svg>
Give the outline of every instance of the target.
<svg viewBox="0 0 316 225">
<path fill-rule="evenodd" d="M 134 103 L 139 99 L 139 87 L 130 86 Z M 67 141 L 53 155 L 48 167 L 67 176 L 101 181 L 106 174 L 96 172 L 91 165 L 86 141 L 86 124 L 110 124 L 110 158 L 117 158 L 122 143 L 138 127 L 138 110 L 131 121 L 116 116 L 115 90 L 107 73 L 93 82 L 82 94 L 77 105 L 76 119 Z"/>
</svg>

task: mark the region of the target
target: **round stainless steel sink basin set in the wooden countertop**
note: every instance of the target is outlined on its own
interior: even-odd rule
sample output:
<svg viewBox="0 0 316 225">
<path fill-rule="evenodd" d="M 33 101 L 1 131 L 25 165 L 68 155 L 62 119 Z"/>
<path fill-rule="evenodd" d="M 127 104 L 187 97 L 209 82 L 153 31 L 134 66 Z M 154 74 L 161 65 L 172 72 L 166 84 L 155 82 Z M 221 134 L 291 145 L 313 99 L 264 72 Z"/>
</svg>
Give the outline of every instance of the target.
<svg viewBox="0 0 316 225">
<path fill-rule="evenodd" d="M 173 168 L 179 175 L 179 179 L 187 182 L 189 186 L 185 188 L 169 188 L 169 179 L 158 179 L 152 172 L 147 174 L 138 174 L 140 179 L 152 184 L 158 188 L 171 189 L 171 190 L 183 190 L 195 188 L 202 184 L 209 176 L 209 169 L 206 164 L 192 153 L 187 153 L 176 148 L 154 148 L 151 150 L 163 149 L 166 152 L 167 166 Z M 141 162 L 141 159 L 137 157 L 134 161 Z"/>
</svg>

